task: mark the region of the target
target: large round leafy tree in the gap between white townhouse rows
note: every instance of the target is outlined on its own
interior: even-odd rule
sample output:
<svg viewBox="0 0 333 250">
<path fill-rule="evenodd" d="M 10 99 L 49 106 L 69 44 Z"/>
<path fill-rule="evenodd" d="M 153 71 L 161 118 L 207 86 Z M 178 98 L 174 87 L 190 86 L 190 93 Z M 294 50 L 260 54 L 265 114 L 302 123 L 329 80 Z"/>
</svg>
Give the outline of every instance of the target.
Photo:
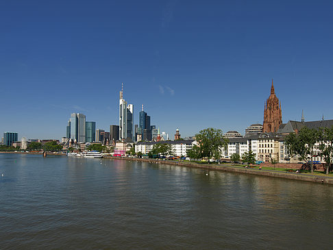
<svg viewBox="0 0 333 250">
<path fill-rule="evenodd" d="M 196 134 L 195 138 L 199 142 L 201 156 L 207 157 L 208 163 L 213 156 L 219 158 L 221 149 L 227 147 L 227 139 L 224 138 L 221 129 L 208 127 L 208 129 L 203 129 L 199 134 Z"/>
</svg>

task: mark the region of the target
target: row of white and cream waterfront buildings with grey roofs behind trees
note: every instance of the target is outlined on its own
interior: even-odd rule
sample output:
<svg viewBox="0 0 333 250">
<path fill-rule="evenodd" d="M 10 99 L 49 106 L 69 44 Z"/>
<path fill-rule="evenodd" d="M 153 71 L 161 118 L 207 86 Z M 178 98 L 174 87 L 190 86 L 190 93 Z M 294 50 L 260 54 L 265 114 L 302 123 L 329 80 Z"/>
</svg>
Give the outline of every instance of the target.
<svg viewBox="0 0 333 250">
<path fill-rule="evenodd" d="M 270 162 L 271 159 L 277 160 L 281 163 L 295 163 L 299 162 L 299 159 L 292 158 L 288 154 L 285 146 L 286 136 L 290 133 L 297 133 L 302 127 L 308 127 L 310 129 L 319 129 L 319 127 L 331 127 L 333 120 L 327 121 L 288 121 L 280 125 L 277 132 L 267 133 L 247 133 L 244 137 L 228 138 L 226 149 L 221 149 L 221 158 L 230 159 L 232 154 L 238 153 L 240 157 L 245 152 L 252 151 L 256 155 L 256 160 L 262 162 Z M 164 142 L 138 142 L 135 145 L 135 151 L 139 151 L 143 154 L 149 153 L 153 149 L 153 145 L 158 143 L 169 144 L 172 146 L 173 153 L 177 156 L 186 156 L 188 149 L 191 149 L 193 145 L 197 145 L 196 140 L 174 140 Z M 314 146 L 314 155 L 312 160 L 323 161 L 319 156 L 319 143 Z"/>
</svg>

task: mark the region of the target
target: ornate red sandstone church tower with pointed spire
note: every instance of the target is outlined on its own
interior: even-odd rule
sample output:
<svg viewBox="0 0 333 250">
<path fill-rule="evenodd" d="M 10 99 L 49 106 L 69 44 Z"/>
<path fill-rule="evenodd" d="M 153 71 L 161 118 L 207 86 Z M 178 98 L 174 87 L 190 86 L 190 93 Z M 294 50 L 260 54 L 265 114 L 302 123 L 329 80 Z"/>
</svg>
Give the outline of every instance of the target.
<svg viewBox="0 0 333 250">
<path fill-rule="evenodd" d="M 282 124 L 281 102 L 275 95 L 272 79 L 271 95 L 266 103 L 264 103 L 264 124 L 262 125 L 262 131 L 277 132 L 280 124 Z"/>
</svg>

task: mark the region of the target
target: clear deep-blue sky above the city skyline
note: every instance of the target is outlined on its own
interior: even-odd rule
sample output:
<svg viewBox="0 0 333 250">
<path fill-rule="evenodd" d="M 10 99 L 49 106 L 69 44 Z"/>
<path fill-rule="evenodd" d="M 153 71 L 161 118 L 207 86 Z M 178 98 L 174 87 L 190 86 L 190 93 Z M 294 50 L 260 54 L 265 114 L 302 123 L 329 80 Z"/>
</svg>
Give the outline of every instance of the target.
<svg viewBox="0 0 333 250">
<path fill-rule="evenodd" d="M 72 112 L 119 123 L 119 90 L 151 125 L 192 136 L 332 119 L 332 1 L 0 1 L 0 132 L 61 138 Z"/>
</svg>

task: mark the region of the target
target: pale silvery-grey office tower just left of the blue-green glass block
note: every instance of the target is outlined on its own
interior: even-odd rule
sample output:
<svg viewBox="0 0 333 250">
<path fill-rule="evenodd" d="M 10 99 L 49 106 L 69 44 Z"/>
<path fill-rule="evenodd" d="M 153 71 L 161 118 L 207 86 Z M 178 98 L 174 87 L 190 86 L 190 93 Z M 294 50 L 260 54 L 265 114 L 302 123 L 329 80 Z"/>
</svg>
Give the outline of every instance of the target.
<svg viewBox="0 0 333 250">
<path fill-rule="evenodd" d="M 86 116 L 84 114 L 71 114 L 71 138 L 77 142 L 86 142 Z"/>
</svg>

